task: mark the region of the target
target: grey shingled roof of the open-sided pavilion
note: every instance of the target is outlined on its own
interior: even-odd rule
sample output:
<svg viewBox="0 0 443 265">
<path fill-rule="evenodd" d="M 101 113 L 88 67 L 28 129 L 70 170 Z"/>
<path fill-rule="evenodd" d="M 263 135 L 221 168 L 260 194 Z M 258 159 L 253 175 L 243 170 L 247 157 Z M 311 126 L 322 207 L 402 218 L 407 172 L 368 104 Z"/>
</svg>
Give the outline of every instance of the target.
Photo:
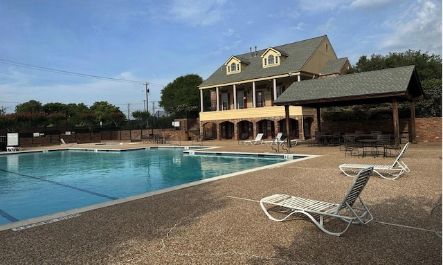
<svg viewBox="0 0 443 265">
<path fill-rule="evenodd" d="M 330 107 L 423 99 L 415 66 L 293 82 L 274 104 Z"/>
</svg>

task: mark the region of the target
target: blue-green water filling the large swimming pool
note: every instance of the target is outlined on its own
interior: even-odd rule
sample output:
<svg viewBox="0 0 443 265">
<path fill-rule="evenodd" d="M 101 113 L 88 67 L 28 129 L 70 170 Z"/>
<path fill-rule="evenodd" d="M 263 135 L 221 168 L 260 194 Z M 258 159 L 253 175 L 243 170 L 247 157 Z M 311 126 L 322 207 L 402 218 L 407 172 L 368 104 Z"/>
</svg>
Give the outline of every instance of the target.
<svg viewBox="0 0 443 265">
<path fill-rule="evenodd" d="M 282 157 L 53 151 L 0 156 L 0 225 L 284 161 Z"/>
</svg>

